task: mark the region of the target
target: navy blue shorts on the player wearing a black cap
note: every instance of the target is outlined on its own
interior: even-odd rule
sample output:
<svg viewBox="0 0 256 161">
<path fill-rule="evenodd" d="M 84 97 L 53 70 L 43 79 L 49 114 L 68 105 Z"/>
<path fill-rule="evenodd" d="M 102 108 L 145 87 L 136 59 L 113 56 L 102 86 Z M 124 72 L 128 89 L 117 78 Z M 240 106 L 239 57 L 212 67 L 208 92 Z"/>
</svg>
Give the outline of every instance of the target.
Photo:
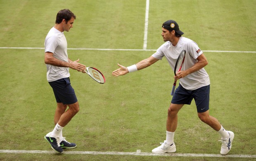
<svg viewBox="0 0 256 161">
<path fill-rule="evenodd" d="M 175 90 L 171 103 L 191 104 L 193 98 L 196 103 L 198 113 L 209 110 L 210 85 L 196 90 L 186 90 L 179 84 L 178 88 Z"/>
</svg>

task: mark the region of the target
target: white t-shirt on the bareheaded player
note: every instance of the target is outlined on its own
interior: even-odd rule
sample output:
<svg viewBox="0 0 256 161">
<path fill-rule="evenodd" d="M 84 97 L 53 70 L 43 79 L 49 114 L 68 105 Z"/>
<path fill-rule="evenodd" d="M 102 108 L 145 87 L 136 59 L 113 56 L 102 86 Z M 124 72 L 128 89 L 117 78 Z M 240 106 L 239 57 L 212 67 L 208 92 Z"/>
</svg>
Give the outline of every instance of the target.
<svg viewBox="0 0 256 161">
<path fill-rule="evenodd" d="M 45 52 L 52 52 L 53 57 L 56 59 L 69 62 L 67 42 L 63 32 L 60 32 L 54 27 L 50 29 L 45 38 Z M 68 67 L 58 67 L 50 64 L 46 64 L 46 67 L 48 82 L 68 78 L 70 76 Z"/>
</svg>

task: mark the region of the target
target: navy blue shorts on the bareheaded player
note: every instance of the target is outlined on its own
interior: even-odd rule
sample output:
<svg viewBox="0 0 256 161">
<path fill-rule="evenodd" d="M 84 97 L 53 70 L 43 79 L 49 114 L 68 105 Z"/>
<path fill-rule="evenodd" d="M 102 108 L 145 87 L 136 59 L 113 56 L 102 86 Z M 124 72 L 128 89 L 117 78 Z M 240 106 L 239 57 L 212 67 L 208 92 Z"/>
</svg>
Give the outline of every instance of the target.
<svg viewBox="0 0 256 161">
<path fill-rule="evenodd" d="M 49 82 L 54 92 L 57 103 L 73 104 L 77 102 L 75 90 L 72 88 L 69 78 L 62 78 Z"/>
</svg>

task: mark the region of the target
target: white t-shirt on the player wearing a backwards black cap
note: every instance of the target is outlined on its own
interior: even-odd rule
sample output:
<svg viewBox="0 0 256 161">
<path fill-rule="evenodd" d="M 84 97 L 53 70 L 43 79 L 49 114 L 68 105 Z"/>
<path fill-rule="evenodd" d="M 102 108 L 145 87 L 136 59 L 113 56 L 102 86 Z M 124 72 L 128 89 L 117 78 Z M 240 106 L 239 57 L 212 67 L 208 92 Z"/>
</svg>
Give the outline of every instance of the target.
<svg viewBox="0 0 256 161">
<path fill-rule="evenodd" d="M 194 64 L 198 62 L 197 57 L 203 53 L 198 47 L 197 43 L 188 38 L 180 37 L 180 40 L 176 46 L 173 46 L 170 41 L 167 41 L 161 45 L 157 49 L 156 53 L 154 53 L 152 56 L 156 59 L 166 57 L 169 65 L 174 71 L 176 60 L 178 59 L 178 56 L 182 50 L 186 50 L 186 56 L 181 71 L 185 71 L 194 66 Z M 202 68 L 199 71 L 195 71 L 194 73 L 181 78 L 180 84 L 186 90 L 196 90 L 209 85 L 210 79 L 205 69 Z"/>
</svg>

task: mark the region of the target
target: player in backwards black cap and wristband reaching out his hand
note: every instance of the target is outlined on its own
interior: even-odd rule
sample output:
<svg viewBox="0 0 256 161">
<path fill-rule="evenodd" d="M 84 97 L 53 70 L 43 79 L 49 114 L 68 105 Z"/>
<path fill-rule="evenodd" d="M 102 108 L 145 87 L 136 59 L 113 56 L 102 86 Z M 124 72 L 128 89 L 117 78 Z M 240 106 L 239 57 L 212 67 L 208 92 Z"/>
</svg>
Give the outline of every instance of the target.
<svg viewBox="0 0 256 161">
<path fill-rule="evenodd" d="M 231 149 L 234 139 L 232 131 L 225 130 L 219 121 L 209 115 L 210 80 L 204 66 L 208 64 L 206 57 L 194 41 L 183 37 L 176 21 L 168 20 L 162 25 L 163 39 L 166 43 L 147 59 L 132 66 L 122 66 L 112 72 L 113 76 L 122 76 L 137 70 L 147 68 L 163 57 L 166 57 L 169 65 L 174 70 L 176 60 L 182 50 L 186 50 L 183 70 L 176 73 L 174 79 L 180 79 L 180 84 L 175 90 L 171 105 L 168 108 L 166 121 L 166 140 L 159 147 L 152 150 L 154 154 L 173 153 L 176 151 L 174 133 L 178 124 L 178 112 L 184 104 L 190 104 L 194 99 L 197 106 L 197 114 L 201 121 L 216 130 L 222 141 L 220 154 L 225 155 Z"/>
</svg>

